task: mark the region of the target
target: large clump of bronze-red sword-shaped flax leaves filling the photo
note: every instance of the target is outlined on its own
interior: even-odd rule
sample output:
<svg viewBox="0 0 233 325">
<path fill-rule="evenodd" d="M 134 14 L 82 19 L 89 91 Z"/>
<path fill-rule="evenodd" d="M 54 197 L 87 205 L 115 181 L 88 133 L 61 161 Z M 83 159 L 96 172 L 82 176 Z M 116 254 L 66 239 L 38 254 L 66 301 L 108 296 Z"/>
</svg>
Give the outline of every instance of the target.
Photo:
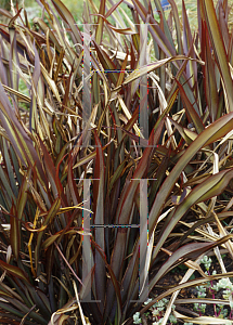
<svg viewBox="0 0 233 325">
<path fill-rule="evenodd" d="M 183 29 L 174 1 L 168 20 L 125 1 L 132 21 L 121 2 L 86 2 L 82 31 L 61 0 L 38 0 L 33 26 L 1 10 L 2 322 L 132 323 L 172 268 L 232 256 L 228 1 L 198 1 L 198 38 L 184 2 Z"/>
</svg>

